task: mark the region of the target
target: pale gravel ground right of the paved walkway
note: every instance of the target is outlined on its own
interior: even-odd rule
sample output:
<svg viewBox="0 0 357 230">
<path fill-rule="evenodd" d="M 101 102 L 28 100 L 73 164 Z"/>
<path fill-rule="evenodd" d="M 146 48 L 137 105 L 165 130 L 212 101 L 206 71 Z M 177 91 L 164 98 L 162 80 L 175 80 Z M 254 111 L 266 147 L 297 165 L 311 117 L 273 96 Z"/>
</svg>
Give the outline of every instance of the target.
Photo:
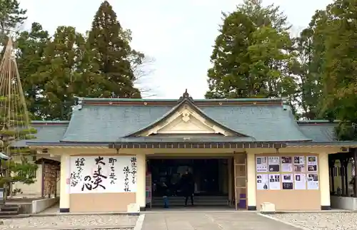
<svg viewBox="0 0 357 230">
<path fill-rule="evenodd" d="M 357 213 L 294 213 L 271 215 L 276 219 L 311 230 L 356 230 Z"/>
</svg>

